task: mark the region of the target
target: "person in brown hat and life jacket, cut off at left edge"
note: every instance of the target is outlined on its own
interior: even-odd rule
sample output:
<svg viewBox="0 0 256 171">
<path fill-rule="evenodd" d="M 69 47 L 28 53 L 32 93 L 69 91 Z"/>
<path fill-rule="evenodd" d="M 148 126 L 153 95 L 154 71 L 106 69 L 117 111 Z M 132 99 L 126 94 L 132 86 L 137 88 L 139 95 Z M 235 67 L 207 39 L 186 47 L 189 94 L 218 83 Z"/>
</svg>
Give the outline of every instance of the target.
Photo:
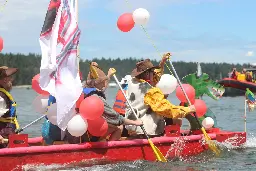
<svg viewBox="0 0 256 171">
<path fill-rule="evenodd" d="M 12 75 L 17 71 L 17 68 L 0 67 L 0 148 L 6 147 L 3 139 L 19 128 L 16 102 L 9 93 L 12 89 Z"/>
</svg>

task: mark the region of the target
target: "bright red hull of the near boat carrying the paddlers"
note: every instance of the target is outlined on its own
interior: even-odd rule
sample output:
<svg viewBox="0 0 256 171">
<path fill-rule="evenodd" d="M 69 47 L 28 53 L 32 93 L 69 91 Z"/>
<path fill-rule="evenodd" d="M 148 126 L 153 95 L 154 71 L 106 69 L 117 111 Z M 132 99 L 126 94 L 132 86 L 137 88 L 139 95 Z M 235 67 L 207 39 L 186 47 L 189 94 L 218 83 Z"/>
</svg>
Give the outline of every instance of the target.
<svg viewBox="0 0 256 171">
<path fill-rule="evenodd" d="M 223 142 L 237 137 L 237 146 L 246 142 L 244 132 L 210 133 L 213 140 Z M 207 150 L 202 145 L 203 135 L 152 138 L 153 143 L 168 158 L 189 157 Z M 178 139 L 179 138 L 179 139 Z M 41 138 L 29 139 L 30 145 L 42 141 Z M 234 140 L 232 140 L 234 142 Z M 83 144 L 63 144 L 51 146 L 30 146 L 0 150 L 0 170 L 22 170 L 25 165 L 73 165 L 84 163 L 87 166 L 118 161 L 149 160 L 155 161 L 154 153 L 146 139 Z"/>
</svg>

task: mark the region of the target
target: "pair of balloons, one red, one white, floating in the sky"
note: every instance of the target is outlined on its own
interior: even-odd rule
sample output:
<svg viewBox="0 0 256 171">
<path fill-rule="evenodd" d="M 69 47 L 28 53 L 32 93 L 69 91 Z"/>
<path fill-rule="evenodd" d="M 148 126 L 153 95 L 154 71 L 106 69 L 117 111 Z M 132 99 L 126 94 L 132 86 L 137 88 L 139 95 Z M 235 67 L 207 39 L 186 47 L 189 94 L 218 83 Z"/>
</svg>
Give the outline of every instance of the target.
<svg viewBox="0 0 256 171">
<path fill-rule="evenodd" d="M 135 24 L 145 26 L 150 18 L 149 12 L 144 8 L 138 8 L 133 13 L 124 13 L 117 20 L 117 27 L 122 32 L 129 32 Z"/>
</svg>

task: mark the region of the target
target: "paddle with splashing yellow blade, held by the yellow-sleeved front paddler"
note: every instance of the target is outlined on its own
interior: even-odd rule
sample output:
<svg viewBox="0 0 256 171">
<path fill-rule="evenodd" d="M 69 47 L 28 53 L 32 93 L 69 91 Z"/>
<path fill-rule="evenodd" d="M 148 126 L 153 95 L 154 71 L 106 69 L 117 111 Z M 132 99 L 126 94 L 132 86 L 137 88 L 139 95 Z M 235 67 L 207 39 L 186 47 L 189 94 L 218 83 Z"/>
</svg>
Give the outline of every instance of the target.
<svg viewBox="0 0 256 171">
<path fill-rule="evenodd" d="M 170 65 L 171 65 L 171 67 L 172 67 L 172 70 L 173 70 L 173 72 L 174 72 L 174 75 L 175 75 L 175 77 L 176 77 L 176 79 L 177 79 L 177 81 L 178 81 L 178 83 L 179 83 L 179 86 L 180 86 L 182 92 L 184 93 L 184 95 L 185 95 L 185 97 L 186 97 L 186 99 L 187 99 L 189 105 L 191 105 L 191 102 L 190 102 L 190 100 L 189 100 L 189 98 L 188 98 L 188 96 L 187 96 L 187 94 L 186 94 L 184 88 L 182 87 L 181 81 L 180 81 L 180 79 L 179 79 L 179 76 L 178 76 L 178 74 L 177 74 L 177 72 L 176 72 L 176 70 L 175 70 L 173 64 L 172 64 L 172 61 L 169 60 L 169 62 L 170 62 Z M 220 150 L 218 149 L 217 145 L 216 145 L 213 141 L 211 141 L 211 137 L 206 133 L 204 127 L 203 127 L 202 124 L 199 122 L 196 112 L 194 112 L 193 114 L 194 114 L 194 116 L 195 116 L 195 118 L 196 118 L 196 121 L 197 121 L 198 125 L 200 126 L 201 131 L 202 131 L 203 134 L 204 134 L 204 138 L 205 138 L 205 140 L 206 140 L 206 142 L 207 142 L 209 148 L 210 148 L 216 155 L 219 155 L 219 154 L 220 154 Z"/>
</svg>

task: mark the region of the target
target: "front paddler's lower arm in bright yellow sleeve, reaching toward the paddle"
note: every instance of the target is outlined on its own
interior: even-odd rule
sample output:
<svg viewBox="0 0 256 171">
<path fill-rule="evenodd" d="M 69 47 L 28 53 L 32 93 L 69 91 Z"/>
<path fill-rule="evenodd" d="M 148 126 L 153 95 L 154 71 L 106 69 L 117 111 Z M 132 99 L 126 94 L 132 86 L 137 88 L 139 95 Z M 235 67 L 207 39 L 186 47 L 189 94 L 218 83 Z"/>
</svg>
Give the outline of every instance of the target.
<svg viewBox="0 0 256 171">
<path fill-rule="evenodd" d="M 184 118 L 195 111 L 194 106 L 175 106 L 164 98 L 159 88 L 151 88 L 144 97 L 144 103 L 158 115 L 167 118 Z"/>
</svg>

